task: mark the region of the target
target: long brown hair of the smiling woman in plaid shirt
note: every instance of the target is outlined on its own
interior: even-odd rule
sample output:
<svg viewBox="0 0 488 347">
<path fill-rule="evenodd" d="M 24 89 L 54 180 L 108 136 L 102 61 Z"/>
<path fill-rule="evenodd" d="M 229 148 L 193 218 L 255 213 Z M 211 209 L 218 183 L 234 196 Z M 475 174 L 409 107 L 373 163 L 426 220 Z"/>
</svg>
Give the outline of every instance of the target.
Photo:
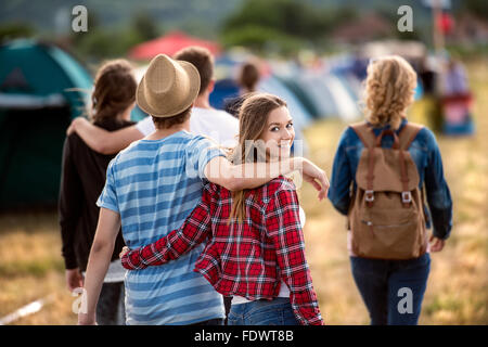
<svg viewBox="0 0 488 347">
<path fill-rule="evenodd" d="M 257 141 L 268 123 L 268 115 L 275 108 L 286 107 L 286 102 L 268 93 L 246 95 L 239 112 L 239 144 L 229 155 L 233 164 L 266 162 L 266 149 Z M 229 222 L 235 218 L 242 222 L 246 216 L 244 191 L 232 192 L 232 209 Z"/>
</svg>

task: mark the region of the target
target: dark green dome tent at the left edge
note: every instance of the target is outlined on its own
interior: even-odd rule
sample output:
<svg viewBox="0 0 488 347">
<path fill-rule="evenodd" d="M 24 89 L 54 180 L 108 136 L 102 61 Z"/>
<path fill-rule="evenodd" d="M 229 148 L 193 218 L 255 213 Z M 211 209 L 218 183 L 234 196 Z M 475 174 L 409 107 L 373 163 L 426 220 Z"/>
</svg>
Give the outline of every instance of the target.
<svg viewBox="0 0 488 347">
<path fill-rule="evenodd" d="M 55 46 L 0 46 L 0 208 L 55 205 L 70 119 L 92 78 Z"/>
</svg>

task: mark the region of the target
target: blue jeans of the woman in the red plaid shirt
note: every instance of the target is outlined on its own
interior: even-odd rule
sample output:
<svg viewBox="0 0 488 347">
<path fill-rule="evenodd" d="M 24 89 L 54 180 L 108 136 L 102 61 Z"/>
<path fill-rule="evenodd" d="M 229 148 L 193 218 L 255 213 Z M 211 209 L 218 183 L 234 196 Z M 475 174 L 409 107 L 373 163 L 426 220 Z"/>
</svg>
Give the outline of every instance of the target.
<svg viewBox="0 0 488 347">
<path fill-rule="evenodd" d="M 229 325 L 299 325 L 287 297 L 232 305 Z"/>
</svg>

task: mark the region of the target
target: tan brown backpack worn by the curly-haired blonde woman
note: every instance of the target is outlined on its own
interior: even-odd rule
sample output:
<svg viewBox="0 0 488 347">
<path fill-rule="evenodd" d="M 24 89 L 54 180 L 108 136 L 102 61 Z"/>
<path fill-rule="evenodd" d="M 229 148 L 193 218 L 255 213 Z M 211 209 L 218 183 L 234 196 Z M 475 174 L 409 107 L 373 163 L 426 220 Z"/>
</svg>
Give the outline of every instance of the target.
<svg viewBox="0 0 488 347">
<path fill-rule="evenodd" d="M 364 150 L 356 171 L 357 190 L 348 213 L 352 252 L 363 258 L 411 259 L 427 249 L 419 172 L 408 149 L 422 126 L 406 124 L 400 133 L 376 138 L 367 123 L 352 125 Z M 391 149 L 381 146 L 394 137 Z"/>
</svg>

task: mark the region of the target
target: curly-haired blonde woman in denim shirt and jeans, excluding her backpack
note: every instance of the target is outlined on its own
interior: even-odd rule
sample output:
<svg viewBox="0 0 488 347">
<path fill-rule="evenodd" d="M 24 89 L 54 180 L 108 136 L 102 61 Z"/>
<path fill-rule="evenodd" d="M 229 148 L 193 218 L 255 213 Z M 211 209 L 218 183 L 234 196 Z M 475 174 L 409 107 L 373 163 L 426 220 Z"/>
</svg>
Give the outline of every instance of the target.
<svg viewBox="0 0 488 347">
<path fill-rule="evenodd" d="M 341 214 L 349 217 L 349 221 L 354 220 L 351 207 L 356 206 L 355 194 L 359 191 L 356 174 L 364 149 L 371 150 L 375 146 L 389 149 L 394 145 L 397 145 L 394 149 L 404 149 L 400 152 L 408 152 L 416 167 L 418 188 L 422 191 L 425 187 L 428 208 L 423 203 L 424 194 L 421 194 L 421 206 L 418 206 L 421 211 L 423 209 L 423 216 L 425 216 L 421 219 L 421 223 L 426 229 L 433 224 L 434 230 L 429 239 L 431 243 L 425 240 L 419 256 L 408 255 L 399 260 L 389 256 L 358 255 L 355 253 L 356 249 L 361 249 L 358 243 L 365 239 L 361 241 L 358 241 L 359 237 L 355 239 L 359 227 L 354 233 L 348 230 L 351 271 L 370 313 L 371 324 L 418 323 L 431 268 L 429 252 L 442 249 L 452 228 L 452 201 L 444 178 L 442 160 L 434 133 L 425 127 L 409 124 L 407 120 L 407 108 L 413 102 L 415 86 L 416 74 L 402 57 L 394 55 L 371 61 L 364 83 L 365 121 L 352 125 L 344 131 L 332 169 L 329 198 Z M 399 139 L 407 139 L 407 141 L 400 142 L 402 144 L 398 146 Z M 371 181 L 373 178 L 374 176 L 371 177 Z M 389 177 L 380 179 L 387 180 Z M 374 196 L 374 188 L 371 188 L 368 198 L 372 201 Z M 401 196 L 403 198 L 403 195 Z M 390 197 L 394 198 L 394 196 Z M 368 198 L 365 201 L 369 201 Z M 383 209 L 387 208 L 383 205 L 378 206 Z M 373 239 L 374 242 L 381 242 L 380 237 Z M 404 242 L 406 240 L 401 240 L 400 244 L 403 245 Z M 384 247 L 388 250 L 388 247 L 393 246 Z"/>
</svg>

